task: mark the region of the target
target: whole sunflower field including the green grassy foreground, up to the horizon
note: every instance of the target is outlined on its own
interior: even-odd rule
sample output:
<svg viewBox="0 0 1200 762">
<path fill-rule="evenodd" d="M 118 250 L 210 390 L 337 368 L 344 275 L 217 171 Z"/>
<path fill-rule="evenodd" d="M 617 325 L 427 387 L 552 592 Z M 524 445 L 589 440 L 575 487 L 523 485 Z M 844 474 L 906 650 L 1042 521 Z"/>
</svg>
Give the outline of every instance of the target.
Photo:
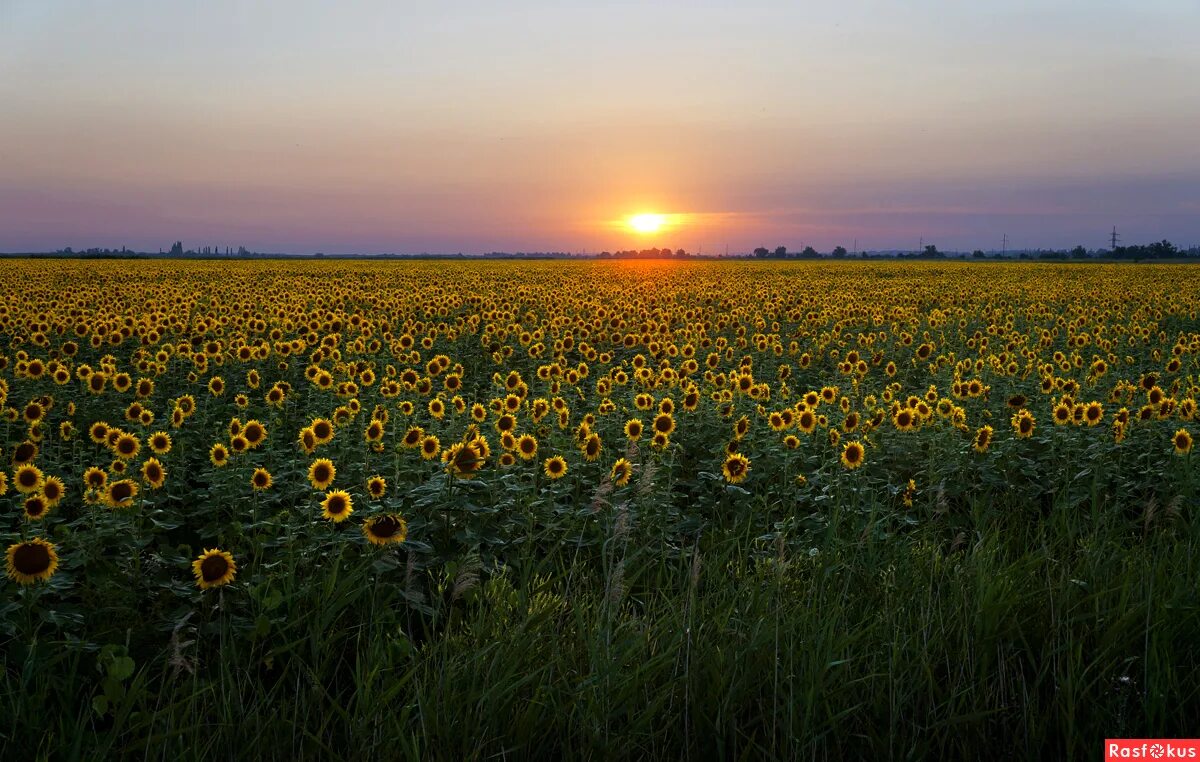
<svg viewBox="0 0 1200 762">
<path fill-rule="evenodd" d="M 1194 736 L 1198 311 L 1186 265 L 5 262 L 0 757 Z"/>
</svg>

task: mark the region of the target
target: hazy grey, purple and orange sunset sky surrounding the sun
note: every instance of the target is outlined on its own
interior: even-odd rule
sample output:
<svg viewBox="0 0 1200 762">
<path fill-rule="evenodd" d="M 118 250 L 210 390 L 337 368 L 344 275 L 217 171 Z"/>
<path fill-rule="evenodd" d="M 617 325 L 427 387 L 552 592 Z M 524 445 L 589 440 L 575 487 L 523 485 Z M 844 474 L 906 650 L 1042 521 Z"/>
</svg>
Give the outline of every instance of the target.
<svg viewBox="0 0 1200 762">
<path fill-rule="evenodd" d="M 1198 30 L 1195 0 L 0 0 L 0 251 L 1200 244 Z"/>
</svg>

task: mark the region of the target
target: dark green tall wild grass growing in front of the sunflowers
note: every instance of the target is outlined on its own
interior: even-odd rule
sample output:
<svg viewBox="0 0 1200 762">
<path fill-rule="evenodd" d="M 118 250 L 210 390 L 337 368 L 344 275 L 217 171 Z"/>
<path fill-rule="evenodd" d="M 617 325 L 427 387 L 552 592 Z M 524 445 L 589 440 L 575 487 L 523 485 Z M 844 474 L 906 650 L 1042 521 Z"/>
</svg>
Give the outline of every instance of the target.
<svg viewBox="0 0 1200 762">
<path fill-rule="evenodd" d="M 5 757 L 1075 758 L 1194 730 L 1198 526 L 1178 508 L 1034 521 L 980 496 L 898 541 L 866 503 L 815 542 L 773 534 L 769 506 L 685 540 L 653 498 L 504 565 L 335 551 L 259 600 L 230 588 L 127 631 L 120 656 L 23 623 Z"/>
</svg>

